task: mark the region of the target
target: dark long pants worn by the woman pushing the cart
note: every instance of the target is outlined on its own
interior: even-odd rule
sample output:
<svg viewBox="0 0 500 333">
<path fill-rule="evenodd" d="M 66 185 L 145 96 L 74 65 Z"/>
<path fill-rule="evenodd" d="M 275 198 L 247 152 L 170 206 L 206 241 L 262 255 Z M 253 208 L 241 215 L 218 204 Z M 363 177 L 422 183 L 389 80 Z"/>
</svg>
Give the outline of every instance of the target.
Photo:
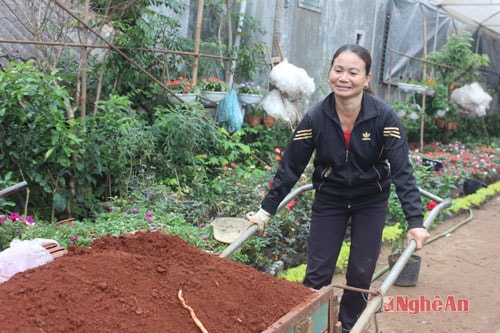
<svg viewBox="0 0 500 333">
<path fill-rule="evenodd" d="M 386 215 L 387 200 L 356 210 L 314 200 L 304 285 L 321 289 L 331 284 L 344 235 L 351 221 L 346 283 L 351 287 L 368 289 L 380 254 Z M 344 291 L 339 310 L 339 320 L 344 330 L 352 328 L 366 302 L 366 294 Z"/>
</svg>

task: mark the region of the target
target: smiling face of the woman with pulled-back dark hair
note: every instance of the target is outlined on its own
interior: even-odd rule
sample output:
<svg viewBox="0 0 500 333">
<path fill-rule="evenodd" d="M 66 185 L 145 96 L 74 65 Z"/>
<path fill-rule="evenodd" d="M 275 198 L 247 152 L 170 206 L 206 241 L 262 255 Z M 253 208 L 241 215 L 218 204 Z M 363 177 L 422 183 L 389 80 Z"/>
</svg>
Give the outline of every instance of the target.
<svg viewBox="0 0 500 333">
<path fill-rule="evenodd" d="M 366 65 L 356 53 L 342 52 L 333 61 L 328 84 L 335 97 L 350 98 L 363 94 L 363 88 L 368 87 L 372 75 L 366 74 Z"/>
</svg>

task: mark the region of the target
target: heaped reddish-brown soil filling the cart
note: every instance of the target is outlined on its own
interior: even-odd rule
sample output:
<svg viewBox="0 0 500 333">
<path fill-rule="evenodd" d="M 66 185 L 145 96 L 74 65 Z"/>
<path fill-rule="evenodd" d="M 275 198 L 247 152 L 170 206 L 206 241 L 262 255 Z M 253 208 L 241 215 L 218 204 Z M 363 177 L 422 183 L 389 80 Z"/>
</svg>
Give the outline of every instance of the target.
<svg viewBox="0 0 500 333">
<path fill-rule="evenodd" d="M 105 237 L 0 284 L 0 332 L 260 332 L 315 292 L 159 232 Z"/>
</svg>

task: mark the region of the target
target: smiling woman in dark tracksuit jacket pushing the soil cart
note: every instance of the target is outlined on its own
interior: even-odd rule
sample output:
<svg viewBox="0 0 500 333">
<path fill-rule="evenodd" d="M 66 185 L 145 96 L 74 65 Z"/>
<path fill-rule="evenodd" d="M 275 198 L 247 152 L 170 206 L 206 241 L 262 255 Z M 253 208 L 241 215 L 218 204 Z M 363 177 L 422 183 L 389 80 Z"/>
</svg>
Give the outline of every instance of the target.
<svg viewBox="0 0 500 333">
<path fill-rule="evenodd" d="M 371 93 L 370 67 L 371 56 L 359 45 L 344 45 L 335 52 L 328 79 L 332 93 L 304 115 L 261 208 L 247 214 L 262 232 L 314 153 L 315 196 L 303 282 L 310 288 L 331 283 L 349 224 L 347 285 L 369 288 L 391 182 L 408 221 L 407 238 L 414 239 L 420 249 L 429 237 L 405 133 L 394 110 Z M 339 310 L 344 331 L 352 328 L 365 308 L 366 296 L 344 291 Z"/>
</svg>

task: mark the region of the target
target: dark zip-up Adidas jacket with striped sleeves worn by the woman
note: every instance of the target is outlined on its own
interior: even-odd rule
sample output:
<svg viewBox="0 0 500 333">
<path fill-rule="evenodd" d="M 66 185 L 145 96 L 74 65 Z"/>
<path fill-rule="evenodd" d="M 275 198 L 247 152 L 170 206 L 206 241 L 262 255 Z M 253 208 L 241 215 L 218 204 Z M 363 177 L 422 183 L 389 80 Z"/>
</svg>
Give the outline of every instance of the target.
<svg viewBox="0 0 500 333">
<path fill-rule="evenodd" d="M 409 227 L 423 226 L 406 136 L 394 110 L 381 99 L 364 93 L 349 149 L 335 111 L 334 94 L 311 108 L 288 142 L 272 188 L 261 203 L 264 210 L 276 214 L 313 153 L 316 199 L 335 200 L 356 209 L 386 200 L 393 181 Z"/>
</svg>

